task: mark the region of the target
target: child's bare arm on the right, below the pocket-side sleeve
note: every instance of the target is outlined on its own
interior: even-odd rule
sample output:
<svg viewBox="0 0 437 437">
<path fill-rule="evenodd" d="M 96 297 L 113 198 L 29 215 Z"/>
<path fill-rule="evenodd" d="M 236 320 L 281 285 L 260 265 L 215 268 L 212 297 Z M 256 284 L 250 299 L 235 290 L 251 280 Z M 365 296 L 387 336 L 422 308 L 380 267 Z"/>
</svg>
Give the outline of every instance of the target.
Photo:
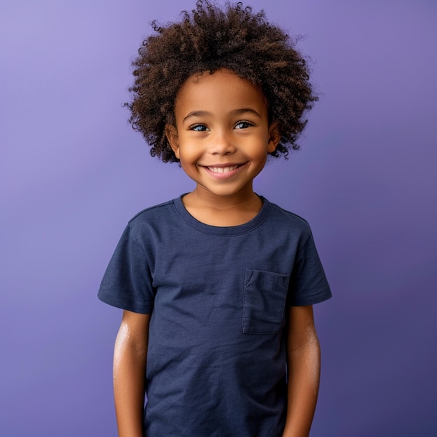
<svg viewBox="0 0 437 437">
<path fill-rule="evenodd" d="M 283 437 L 307 437 L 316 410 L 320 346 L 312 306 L 291 306 L 288 316 L 288 406 Z"/>
</svg>

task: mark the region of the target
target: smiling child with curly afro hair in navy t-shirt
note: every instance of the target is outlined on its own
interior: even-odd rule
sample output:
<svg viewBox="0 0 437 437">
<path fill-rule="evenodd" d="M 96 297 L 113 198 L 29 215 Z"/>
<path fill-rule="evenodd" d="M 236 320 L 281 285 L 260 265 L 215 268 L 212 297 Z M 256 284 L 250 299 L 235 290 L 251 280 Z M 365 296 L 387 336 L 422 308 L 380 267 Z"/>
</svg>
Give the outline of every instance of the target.
<svg viewBox="0 0 437 437">
<path fill-rule="evenodd" d="M 268 155 L 298 148 L 316 101 L 306 64 L 241 3 L 198 1 L 154 30 L 134 62 L 131 123 L 195 188 L 128 223 L 98 293 L 124 309 L 119 436 L 308 436 L 312 305 L 331 292 L 308 223 L 252 186 Z"/>
</svg>

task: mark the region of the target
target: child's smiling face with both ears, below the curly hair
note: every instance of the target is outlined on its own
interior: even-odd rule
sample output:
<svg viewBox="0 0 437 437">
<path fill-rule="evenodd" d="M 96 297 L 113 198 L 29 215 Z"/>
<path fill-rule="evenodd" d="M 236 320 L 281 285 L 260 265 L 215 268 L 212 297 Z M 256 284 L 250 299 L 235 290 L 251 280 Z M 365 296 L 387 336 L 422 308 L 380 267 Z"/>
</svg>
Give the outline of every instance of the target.
<svg viewBox="0 0 437 437">
<path fill-rule="evenodd" d="M 168 140 L 198 193 L 252 193 L 253 178 L 279 142 L 260 89 L 221 69 L 194 75 L 175 102 Z"/>
</svg>

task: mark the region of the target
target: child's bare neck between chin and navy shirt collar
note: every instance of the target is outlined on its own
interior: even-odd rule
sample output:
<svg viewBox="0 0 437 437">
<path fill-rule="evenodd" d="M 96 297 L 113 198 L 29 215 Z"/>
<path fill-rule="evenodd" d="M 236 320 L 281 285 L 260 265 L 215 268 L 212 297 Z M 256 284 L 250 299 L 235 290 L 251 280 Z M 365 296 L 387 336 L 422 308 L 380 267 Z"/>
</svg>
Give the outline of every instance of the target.
<svg viewBox="0 0 437 437">
<path fill-rule="evenodd" d="M 252 189 L 221 196 L 196 187 L 182 198 L 184 207 L 196 220 L 212 226 L 238 226 L 251 221 L 262 208 Z"/>
</svg>

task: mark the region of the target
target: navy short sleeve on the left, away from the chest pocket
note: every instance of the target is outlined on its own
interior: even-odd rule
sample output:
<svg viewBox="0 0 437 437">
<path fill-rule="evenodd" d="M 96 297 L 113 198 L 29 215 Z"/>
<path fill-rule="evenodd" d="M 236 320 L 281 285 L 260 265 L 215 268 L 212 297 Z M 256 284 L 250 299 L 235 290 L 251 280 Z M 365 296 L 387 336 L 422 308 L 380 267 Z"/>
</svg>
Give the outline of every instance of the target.
<svg viewBox="0 0 437 437">
<path fill-rule="evenodd" d="M 133 238 L 131 224 L 121 235 L 103 276 L 98 298 L 106 304 L 134 313 L 151 313 L 154 289 L 147 253 Z"/>
</svg>

